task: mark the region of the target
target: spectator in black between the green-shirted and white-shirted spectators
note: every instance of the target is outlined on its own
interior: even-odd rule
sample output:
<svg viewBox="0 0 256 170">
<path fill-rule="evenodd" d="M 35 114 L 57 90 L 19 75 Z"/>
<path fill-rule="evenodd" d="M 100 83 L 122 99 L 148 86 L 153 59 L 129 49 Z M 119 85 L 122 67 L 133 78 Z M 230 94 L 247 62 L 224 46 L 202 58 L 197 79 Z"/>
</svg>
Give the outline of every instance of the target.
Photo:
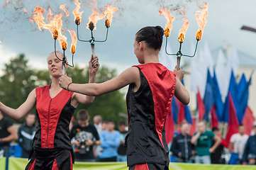
<svg viewBox="0 0 256 170">
<path fill-rule="evenodd" d="M 213 128 L 212 130 L 214 135 L 221 138 L 221 130 L 219 128 Z M 215 142 L 215 140 L 212 140 L 212 146 L 215 145 Z M 215 151 L 211 153 L 211 164 L 225 164 L 225 159 L 221 157 L 224 152 L 224 147 L 228 148 L 228 143 L 221 138 L 221 145 L 218 145 Z"/>
</svg>

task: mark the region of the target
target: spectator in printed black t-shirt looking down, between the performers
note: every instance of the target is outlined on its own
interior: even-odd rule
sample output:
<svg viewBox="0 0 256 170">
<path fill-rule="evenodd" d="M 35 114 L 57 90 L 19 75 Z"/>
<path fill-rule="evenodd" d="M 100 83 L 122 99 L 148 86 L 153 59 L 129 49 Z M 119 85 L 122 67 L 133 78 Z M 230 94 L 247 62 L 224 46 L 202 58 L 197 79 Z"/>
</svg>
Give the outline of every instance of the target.
<svg viewBox="0 0 256 170">
<path fill-rule="evenodd" d="M 80 110 L 77 113 L 78 124 L 70 132 L 72 145 L 75 145 L 74 158 L 78 162 L 95 162 L 93 146 L 101 145 L 99 134 L 94 125 L 89 124 L 89 113 Z"/>
</svg>

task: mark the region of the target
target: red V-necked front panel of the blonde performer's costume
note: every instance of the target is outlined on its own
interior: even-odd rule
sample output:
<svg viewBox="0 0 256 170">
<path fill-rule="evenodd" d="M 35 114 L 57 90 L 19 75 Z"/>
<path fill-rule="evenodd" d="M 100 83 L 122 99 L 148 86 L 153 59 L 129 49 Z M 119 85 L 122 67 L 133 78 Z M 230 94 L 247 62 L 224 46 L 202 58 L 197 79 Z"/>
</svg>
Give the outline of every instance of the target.
<svg viewBox="0 0 256 170">
<path fill-rule="evenodd" d="M 54 98 L 50 97 L 50 85 L 35 89 L 36 108 L 41 125 L 41 148 L 54 148 L 54 137 L 62 108 L 73 92 L 62 89 Z"/>
</svg>

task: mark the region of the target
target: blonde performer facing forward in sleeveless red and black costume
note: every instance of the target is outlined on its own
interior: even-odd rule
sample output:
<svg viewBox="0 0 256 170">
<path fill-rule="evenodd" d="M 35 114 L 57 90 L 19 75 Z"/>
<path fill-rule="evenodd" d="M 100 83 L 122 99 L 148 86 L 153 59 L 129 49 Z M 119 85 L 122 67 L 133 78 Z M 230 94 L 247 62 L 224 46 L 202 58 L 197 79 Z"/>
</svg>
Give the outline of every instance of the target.
<svg viewBox="0 0 256 170">
<path fill-rule="evenodd" d="M 57 52 L 62 57 L 62 52 Z M 47 59 L 52 83 L 35 88 L 27 100 L 17 109 L 9 108 L 0 102 L 0 111 L 19 120 L 36 105 L 38 125 L 33 140 L 33 150 L 26 169 L 72 169 L 74 159 L 69 139 L 69 123 L 75 108 L 79 103 L 87 104 L 94 101 L 94 96 L 86 96 L 62 89 L 59 85 L 62 62 L 50 53 Z M 97 67 L 92 67 L 92 65 Z M 67 64 L 66 64 L 67 69 Z M 98 58 L 91 57 L 89 61 L 89 83 L 95 82 L 96 71 L 99 68 Z M 90 145 L 95 145 L 91 142 Z"/>
</svg>

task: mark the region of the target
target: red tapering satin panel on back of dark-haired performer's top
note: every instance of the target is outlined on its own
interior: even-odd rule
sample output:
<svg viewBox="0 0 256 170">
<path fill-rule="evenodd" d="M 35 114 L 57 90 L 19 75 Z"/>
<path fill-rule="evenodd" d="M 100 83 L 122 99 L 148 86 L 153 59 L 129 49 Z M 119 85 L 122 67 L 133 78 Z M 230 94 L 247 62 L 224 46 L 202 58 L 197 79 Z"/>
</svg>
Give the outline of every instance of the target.
<svg viewBox="0 0 256 170">
<path fill-rule="evenodd" d="M 162 142 L 162 130 L 165 127 L 165 119 L 172 103 L 174 89 L 176 86 L 176 75 L 160 63 L 140 64 L 143 75 L 150 85 L 154 101 L 155 129 Z"/>
</svg>

